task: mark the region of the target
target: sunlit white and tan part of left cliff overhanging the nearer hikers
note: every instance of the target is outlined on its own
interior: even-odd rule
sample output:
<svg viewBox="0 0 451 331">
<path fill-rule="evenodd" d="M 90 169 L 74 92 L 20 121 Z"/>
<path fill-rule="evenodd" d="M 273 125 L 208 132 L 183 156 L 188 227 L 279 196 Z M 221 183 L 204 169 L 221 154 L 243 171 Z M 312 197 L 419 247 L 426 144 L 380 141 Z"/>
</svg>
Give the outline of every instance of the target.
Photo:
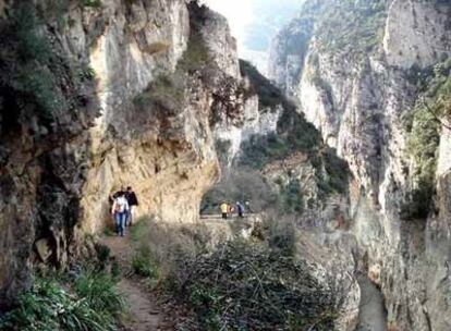
<svg viewBox="0 0 451 331">
<path fill-rule="evenodd" d="M 218 175 L 209 131 L 210 94 L 196 78 L 173 113 L 133 98 L 175 70 L 190 39 L 190 13 L 184 1 L 134 2 L 130 12 L 108 7 L 111 17 L 90 52 L 101 117 L 90 130 L 92 159 L 82 204 L 85 229 L 97 231 L 108 219 L 108 195 L 132 185 L 138 214 L 190 222 L 198 200 Z M 224 64 L 226 65 L 226 64 Z M 169 98 L 170 96 L 168 96 Z M 186 194 L 186 192 L 192 192 Z"/>
</svg>

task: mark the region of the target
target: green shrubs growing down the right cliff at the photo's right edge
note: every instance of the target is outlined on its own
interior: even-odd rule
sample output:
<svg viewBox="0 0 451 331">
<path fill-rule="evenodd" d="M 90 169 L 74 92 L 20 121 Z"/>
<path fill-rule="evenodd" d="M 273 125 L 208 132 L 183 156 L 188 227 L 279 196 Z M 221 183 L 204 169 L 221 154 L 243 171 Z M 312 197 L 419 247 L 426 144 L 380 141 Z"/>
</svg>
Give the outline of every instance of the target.
<svg viewBox="0 0 451 331">
<path fill-rule="evenodd" d="M 440 132 L 443 119 L 451 118 L 450 71 L 451 60 L 426 71 L 429 76 L 418 71 L 422 93 L 414 110 L 404 117 L 407 152 L 414 162 L 414 186 L 401 210 L 407 220 L 426 219 L 432 207 Z"/>
</svg>

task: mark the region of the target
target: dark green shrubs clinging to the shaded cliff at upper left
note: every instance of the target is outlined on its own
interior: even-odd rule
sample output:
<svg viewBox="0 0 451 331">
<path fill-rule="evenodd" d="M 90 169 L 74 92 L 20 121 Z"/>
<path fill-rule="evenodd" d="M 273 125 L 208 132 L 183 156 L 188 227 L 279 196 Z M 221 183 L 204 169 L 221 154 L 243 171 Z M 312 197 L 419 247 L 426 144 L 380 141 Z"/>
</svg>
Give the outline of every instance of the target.
<svg viewBox="0 0 451 331">
<path fill-rule="evenodd" d="M 45 24 L 62 17 L 66 5 L 63 0 L 36 7 L 21 2 L 8 11 L 9 24 L 0 40 L 0 62 L 4 63 L 0 88 L 8 90 L 8 102 L 16 108 L 15 117 L 35 110 L 47 123 L 57 113 L 73 110 L 87 99 L 86 91 L 82 94 L 81 89 L 82 84 L 86 89 L 89 85 L 86 83 L 94 78 L 93 69 L 77 65 L 58 53 L 58 45 L 52 42 Z M 51 10 L 47 11 L 47 7 Z"/>
</svg>

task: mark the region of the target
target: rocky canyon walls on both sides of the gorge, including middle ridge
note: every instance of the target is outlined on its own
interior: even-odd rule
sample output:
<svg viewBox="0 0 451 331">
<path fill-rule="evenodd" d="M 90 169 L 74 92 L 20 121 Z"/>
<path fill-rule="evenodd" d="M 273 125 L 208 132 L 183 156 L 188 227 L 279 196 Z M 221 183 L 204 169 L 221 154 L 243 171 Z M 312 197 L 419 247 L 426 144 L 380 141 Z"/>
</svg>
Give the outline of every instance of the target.
<svg viewBox="0 0 451 331">
<path fill-rule="evenodd" d="M 448 1 L 307 0 L 272 41 L 278 87 L 196 2 L 57 2 L 0 1 L 1 308 L 88 254 L 120 186 L 196 223 L 245 173 L 343 290 L 337 330 L 362 295 L 381 330 L 451 329 Z"/>
</svg>

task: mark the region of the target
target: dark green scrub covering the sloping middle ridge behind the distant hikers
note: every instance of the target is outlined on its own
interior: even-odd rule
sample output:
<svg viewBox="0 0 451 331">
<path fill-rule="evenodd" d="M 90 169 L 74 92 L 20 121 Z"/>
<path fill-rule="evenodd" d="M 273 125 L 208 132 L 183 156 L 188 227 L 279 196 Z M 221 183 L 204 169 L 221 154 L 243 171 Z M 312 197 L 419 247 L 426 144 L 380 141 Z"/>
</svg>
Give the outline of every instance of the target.
<svg viewBox="0 0 451 331">
<path fill-rule="evenodd" d="M 249 200 L 255 204 L 253 211 L 256 212 L 275 208 L 282 213 L 301 213 L 305 201 L 298 180 L 290 177 L 288 182 L 276 183 L 279 188 L 275 191 L 260 173 L 268 164 L 297 152 L 308 156 L 314 166 L 320 197 L 345 193 L 350 176 L 346 162 L 338 158 L 334 150 L 322 146 L 319 132 L 296 112 L 295 106 L 277 87 L 248 62 L 241 61 L 240 64 L 242 75 L 251 83 L 248 93 L 258 95 L 264 109 L 280 106 L 282 114 L 276 133 L 254 135 L 242 144 L 232 171 L 204 196 L 200 212 L 217 212 L 218 205 L 223 200 Z M 219 142 L 217 147 L 220 160 L 227 164 L 227 143 Z"/>
</svg>

